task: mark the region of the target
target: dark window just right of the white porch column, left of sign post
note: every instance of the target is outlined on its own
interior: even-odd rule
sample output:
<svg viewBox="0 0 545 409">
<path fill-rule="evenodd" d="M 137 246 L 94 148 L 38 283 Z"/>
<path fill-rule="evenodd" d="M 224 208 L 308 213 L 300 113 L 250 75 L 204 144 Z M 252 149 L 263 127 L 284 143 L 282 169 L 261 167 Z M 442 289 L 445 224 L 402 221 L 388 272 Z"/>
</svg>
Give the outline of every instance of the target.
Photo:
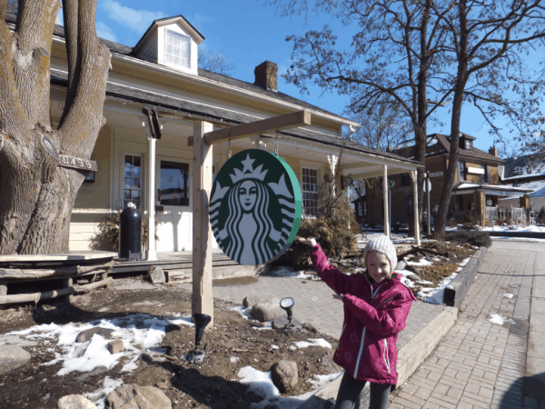
<svg viewBox="0 0 545 409">
<path fill-rule="evenodd" d="M 189 165 L 161 161 L 159 203 L 165 206 L 189 205 Z"/>
</svg>

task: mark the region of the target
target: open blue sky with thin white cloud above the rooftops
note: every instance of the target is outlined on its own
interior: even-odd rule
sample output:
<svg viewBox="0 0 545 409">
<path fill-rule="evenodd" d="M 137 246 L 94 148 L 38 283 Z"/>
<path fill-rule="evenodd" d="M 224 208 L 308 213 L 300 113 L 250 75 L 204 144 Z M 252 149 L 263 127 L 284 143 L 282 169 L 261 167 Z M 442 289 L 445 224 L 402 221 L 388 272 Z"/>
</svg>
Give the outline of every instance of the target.
<svg viewBox="0 0 545 409">
<path fill-rule="evenodd" d="M 223 53 L 234 63 L 235 78 L 253 82 L 254 67 L 265 60 L 272 61 L 279 66 L 279 90 L 341 115 L 348 102 L 346 96 L 322 95 L 317 87 L 311 88 L 310 95 L 301 95 L 297 87 L 285 83 L 281 75 L 291 64 L 292 55 L 292 44 L 285 38 L 330 25 L 339 35 L 340 43 L 348 45 L 353 28 L 343 26 L 331 15 L 312 14 L 305 25 L 302 18 L 281 17 L 274 7 L 264 3 L 264 0 L 162 0 L 151 3 L 143 0 L 98 0 L 96 27 L 99 36 L 134 46 L 155 19 L 183 15 L 205 37 L 201 47 L 213 53 Z M 446 125 L 429 125 L 429 134 L 450 132 L 448 109 L 443 108 L 441 115 L 445 115 L 443 122 Z M 462 110 L 461 119 L 461 131 L 475 136 L 475 145 L 488 151 L 492 138 L 481 115 L 466 107 Z"/>
</svg>

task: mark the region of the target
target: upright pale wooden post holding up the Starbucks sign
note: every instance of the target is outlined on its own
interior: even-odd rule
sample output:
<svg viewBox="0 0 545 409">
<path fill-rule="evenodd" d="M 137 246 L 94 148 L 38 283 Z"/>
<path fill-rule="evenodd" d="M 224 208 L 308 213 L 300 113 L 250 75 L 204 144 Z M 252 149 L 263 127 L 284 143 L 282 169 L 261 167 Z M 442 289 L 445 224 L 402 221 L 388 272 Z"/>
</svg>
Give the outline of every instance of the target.
<svg viewBox="0 0 545 409">
<path fill-rule="evenodd" d="M 212 294 L 212 226 L 209 201 L 212 193 L 212 145 L 204 142 L 204 134 L 213 125 L 193 125 L 193 295 L 192 314 L 208 314 L 213 328 Z"/>
</svg>

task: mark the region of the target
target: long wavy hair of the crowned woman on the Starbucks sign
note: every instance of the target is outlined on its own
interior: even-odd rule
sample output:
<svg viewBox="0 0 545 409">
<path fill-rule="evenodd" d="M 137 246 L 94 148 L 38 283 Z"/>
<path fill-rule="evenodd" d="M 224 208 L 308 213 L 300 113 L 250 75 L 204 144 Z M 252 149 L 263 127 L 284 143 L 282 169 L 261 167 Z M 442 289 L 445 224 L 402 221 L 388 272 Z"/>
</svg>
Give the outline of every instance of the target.
<svg viewBox="0 0 545 409">
<path fill-rule="evenodd" d="M 225 227 L 227 228 L 230 241 L 225 249 L 225 254 L 235 261 L 239 261 L 243 254 L 244 242 L 243 234 L 240 229 L 243 211 L 238 203 L 238 189 L 243 182 L 244 180 L 237 182 L 236 185 L 231 188 L 231 191 L 227 196 L 229 217 L 225 222 Z M 253 205 L 252 210 L 253 218 L 257 224 L 257 231 L 252 238 L 252 250 L 255 263 L 263 264 L 272 258 L 272 249 L 269 248 L 269 244 L 267 243 L 267 239 L 269 238 L 273 227 L 271 217 L 268 213 L 270 205 L 269 192 L 261 181 L 253 180 L 252 182 L 257 188 L 255 205 Z"/>
</svg>

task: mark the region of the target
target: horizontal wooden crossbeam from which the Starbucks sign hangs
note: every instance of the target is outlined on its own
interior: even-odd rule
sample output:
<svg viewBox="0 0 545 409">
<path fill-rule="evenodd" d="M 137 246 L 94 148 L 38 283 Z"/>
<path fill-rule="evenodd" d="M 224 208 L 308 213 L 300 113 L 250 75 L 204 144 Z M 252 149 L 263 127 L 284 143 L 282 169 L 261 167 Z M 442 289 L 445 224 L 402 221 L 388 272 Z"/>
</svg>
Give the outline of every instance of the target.
<svg viewBox="0 0 545 409">
<path fill-rule="evenodd" d="M 204 135 L 204 142 L 207 145 L 213 145 L 223 141 L 234 141 L 235 139 L 282 131 L 284 129 L 298 128 L 306 125 L 311 125 L 311 113 L 309 111 L 298 111 L 293 112 L 292 114 L 273 116 L 272 118 L 262 119 L 261 121 L 208 132 Z M 193 136 L 188 138 L 187 145 L 193 146 Z"/>
</svg>

